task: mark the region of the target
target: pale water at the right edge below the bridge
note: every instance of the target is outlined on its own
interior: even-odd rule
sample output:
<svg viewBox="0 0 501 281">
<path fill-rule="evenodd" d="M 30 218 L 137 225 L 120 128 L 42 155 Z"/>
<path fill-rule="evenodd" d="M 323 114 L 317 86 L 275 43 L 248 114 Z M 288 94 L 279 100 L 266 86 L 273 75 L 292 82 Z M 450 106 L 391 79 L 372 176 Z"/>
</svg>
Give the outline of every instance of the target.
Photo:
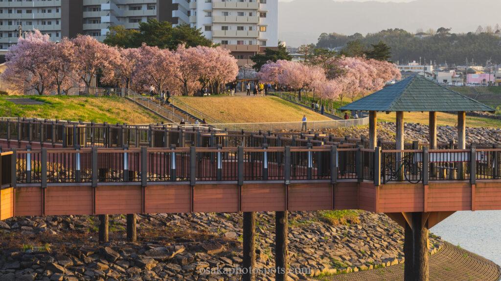
<svg viewBox="0 0 501 281">
<path fill-rule="evenodd" d="M 501 265 L 501 211 L 458 211 L 430 231 Z"/>
</svg>

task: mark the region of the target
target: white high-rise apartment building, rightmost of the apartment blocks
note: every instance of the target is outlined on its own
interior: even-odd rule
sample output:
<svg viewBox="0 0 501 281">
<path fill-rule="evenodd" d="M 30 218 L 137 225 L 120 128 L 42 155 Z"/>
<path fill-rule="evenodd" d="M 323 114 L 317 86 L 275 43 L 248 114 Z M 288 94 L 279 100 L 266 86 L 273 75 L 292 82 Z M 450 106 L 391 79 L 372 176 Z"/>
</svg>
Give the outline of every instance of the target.
<svg viewBox="0 0 501 281">
<path fill-rule="evenodd" d="M 174 22 L 189 23 L 205 37 L 230 49 L 238 65 L 253 64 L 249 59 L 265 47 L 277 47 L 277 0 L 173 0 Z"/>
</svg>

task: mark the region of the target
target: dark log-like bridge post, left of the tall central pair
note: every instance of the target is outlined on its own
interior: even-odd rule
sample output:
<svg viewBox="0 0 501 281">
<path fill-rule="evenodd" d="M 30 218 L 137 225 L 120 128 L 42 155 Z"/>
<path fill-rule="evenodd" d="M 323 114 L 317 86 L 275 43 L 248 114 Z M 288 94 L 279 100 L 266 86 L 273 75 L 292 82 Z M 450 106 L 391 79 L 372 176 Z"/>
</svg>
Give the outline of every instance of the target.
<svg viewBox="0 0 501 281">
<path fill-rule="evenodd" d="M 243 212 L 243 264 L 247 272 L 243 273 L 243 281 L 255 281 L 256 274 L 256 212 Z"/>
</svg>

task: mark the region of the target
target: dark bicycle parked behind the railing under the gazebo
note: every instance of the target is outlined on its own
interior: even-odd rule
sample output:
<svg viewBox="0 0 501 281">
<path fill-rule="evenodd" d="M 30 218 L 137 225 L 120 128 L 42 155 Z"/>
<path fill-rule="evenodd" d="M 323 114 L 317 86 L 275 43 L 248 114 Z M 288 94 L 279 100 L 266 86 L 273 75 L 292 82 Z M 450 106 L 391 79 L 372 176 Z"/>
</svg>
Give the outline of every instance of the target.
<svg viewBox="0 0 501 281">
<path fill-rule="evenodd" d="M 381 176 L 383 183 L 396 180 L 399 174 L 402 174 L 405 180 L 410 183 L 418 183 L 422 180 L 422 173 L 420 172 L 419 162 L 416 161 L 417 153 L 411 152 L 403 156 L 399 161 L 392 161 L 393 159 L 384 159 L 384 166 L 381 169 Z"/>
</svg>

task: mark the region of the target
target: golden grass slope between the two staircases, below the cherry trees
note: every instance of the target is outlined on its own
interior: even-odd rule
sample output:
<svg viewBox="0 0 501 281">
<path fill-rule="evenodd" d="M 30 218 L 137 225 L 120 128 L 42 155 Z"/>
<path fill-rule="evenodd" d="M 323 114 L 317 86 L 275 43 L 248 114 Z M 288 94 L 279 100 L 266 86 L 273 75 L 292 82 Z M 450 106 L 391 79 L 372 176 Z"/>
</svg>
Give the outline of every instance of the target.
<svg viewBox="0 0 501 281">
<path fill-rule="evenodd" d="M 176 97 L 225 123 L 293 122 L 303 114 L 309 121 L 330 120 L 326 116 L 274 96 Z"/>
</svg>

